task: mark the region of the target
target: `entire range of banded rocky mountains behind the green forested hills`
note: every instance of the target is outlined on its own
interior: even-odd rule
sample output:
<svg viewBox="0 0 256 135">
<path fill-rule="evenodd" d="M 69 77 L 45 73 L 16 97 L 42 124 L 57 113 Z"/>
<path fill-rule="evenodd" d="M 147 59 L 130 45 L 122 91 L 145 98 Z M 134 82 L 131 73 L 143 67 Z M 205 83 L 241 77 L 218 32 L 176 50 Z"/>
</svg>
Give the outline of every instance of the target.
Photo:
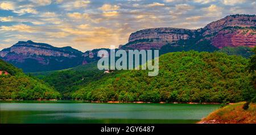
<svg viewBox="0 0 256 135">
<path fill-rule="evenodd" d="M 252 54 L 250 48 L 255 45 L 256 16 L 229 15 L 200 29 L 142 29 L 131 33 L 128 43 L 119 45 L 119 49 L 159 49 L 160 54 L 183 50 L 220 50 L 249 57 Z M 24 72 L 51 71 L 97 61 L 98 50 L 100 49 L 82 53 L 72 47 L 57 48 L 29 40 L 19 41 L 12 47 L 1 50 L 0 58 L 23 69 Z"/>
</svg>

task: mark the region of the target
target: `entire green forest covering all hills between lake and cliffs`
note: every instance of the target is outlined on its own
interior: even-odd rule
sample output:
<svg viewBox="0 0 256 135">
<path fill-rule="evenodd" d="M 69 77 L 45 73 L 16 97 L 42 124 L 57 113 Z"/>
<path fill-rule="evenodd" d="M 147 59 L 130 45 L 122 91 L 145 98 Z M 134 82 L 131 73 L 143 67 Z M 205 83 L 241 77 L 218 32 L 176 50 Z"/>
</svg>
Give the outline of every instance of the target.
<svg viewBox="0 0 256 135">
<path fill-rule="evenodd" d="M 92 62 L 67 70 L 34 73 L 35 78 L 0 60 L 0 70 L 10 73 L 0 76 L 0 99 L 255 102 L 253 57 L 255 55 L 250 60 L 221 52 L 193 50 L 167 53 L 159 58 L 156 77 L 148 77 L 147 70 L 116 70 L 104 74 L 97 69 L 97 62 Z"/>
</svg>

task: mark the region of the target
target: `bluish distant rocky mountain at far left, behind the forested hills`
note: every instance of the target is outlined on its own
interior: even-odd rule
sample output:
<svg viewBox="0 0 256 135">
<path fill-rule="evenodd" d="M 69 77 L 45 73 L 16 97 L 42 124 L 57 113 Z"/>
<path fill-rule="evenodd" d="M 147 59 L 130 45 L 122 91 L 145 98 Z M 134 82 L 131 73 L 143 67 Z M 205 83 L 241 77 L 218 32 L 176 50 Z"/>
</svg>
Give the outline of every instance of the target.
<svg viewBox="0 0 256 135">
<path fill-rule="evenodd" d="M 81 65 L 82 52 L 71 47 L 57 48 L 49 44 L 19 41 L 0 52 L 0 58 L 26 72 L 59 70 Z"/>
</svg>

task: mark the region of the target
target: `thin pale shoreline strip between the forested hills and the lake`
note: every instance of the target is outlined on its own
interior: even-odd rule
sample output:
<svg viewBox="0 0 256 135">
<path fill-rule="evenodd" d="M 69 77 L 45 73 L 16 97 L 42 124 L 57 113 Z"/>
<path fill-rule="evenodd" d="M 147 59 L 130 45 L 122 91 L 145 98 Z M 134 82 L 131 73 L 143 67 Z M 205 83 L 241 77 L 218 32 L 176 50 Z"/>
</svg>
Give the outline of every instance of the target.
<svg viewBox="0 0 256 135">
<path fill-rule="evenodd" d="M 207 102 L 202 102 L 202 103 L 196 103 L 196 102 L 158 102 L 158 103 L 152 103 L 152 102 L 119 102 L 119 101 L 108 101 L 108 102 L 100 102 L 100 101 L 87 101 L 87 100 L 56 100 L 56 99 L 49 99 L 49 100 L 13 100 L 13 99 L 7 99 L 7 100 L 2 100 L 0 99 L 0 101 L 27 101 L 27 102 L 60 102 L 60 101 L 77 101 L 77 102 L 86 102 L 86 103 L 109 103 L 109 104 L 221 104 L 221 103 L 207 103 Z M 229 105 L 231 104 L 236 104 L 236 103 L 229 103 Z"/>
</svg>

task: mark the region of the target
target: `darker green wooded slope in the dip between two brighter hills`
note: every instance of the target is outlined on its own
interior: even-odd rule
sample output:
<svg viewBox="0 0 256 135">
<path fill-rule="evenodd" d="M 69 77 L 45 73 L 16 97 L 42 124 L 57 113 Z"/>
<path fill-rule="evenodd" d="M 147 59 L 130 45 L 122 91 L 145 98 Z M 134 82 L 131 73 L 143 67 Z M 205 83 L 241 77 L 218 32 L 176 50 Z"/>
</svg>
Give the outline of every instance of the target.
<svg viewBox="0 0 256 135">
<path fill-rule="evenodd" d="M 44 82 L 55 87 L 64 99 L 72 99 L 73 92 L 90 82 L 97 81 L 106 74 L 104 74 L 104 71 L 98 70 L 97 62 L 92 62 L 69 70 L 33 73 L 32 75 L 36 75 Z"/>
</svg>

